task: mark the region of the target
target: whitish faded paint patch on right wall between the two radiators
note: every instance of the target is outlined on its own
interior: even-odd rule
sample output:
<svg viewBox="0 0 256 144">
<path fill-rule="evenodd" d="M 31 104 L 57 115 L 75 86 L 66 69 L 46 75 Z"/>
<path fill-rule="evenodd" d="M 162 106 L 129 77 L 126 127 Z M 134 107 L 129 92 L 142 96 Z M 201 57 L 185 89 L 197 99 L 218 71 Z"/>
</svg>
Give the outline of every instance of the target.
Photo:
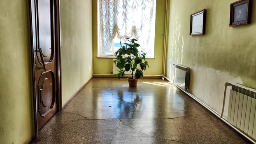
<svg viewBox="0 0 256 144">
<path fill-rule="evenodd" d="M 190 70 L 190 93 L 212 107 L 219 114 L 221 114 L 222 110 L 225 82 L 243 84 L 240 77 L 233 77 L 228 72 L 222 72 L 210 67 L 190 66 Z M 227 91 L 227 99 L 228 97 L 229 91 Z M 226 105 L 227 107 L 228 105 Z"/>
</svg>

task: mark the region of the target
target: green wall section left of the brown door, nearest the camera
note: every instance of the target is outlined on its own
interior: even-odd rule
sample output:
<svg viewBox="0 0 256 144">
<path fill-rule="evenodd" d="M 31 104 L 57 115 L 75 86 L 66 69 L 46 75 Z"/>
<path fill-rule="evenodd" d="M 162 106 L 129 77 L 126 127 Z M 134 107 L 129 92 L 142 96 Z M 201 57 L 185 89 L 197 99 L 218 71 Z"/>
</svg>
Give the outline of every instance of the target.
<svg viewBox="0 0 256 144">
<path fill-rule="evenodd" d="M 27 144 L 33 135 L 27 0 L 0 3 L 0 144 Z"/>
</svg>

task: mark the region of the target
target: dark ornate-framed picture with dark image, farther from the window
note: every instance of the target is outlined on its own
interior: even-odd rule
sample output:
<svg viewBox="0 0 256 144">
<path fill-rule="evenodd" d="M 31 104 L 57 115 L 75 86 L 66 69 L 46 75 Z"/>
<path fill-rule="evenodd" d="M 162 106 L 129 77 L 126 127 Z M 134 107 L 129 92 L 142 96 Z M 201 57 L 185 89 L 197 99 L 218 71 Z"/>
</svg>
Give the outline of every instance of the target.
<svg viewBox="0 0 256 144">
<path fill-rule="evenodd" d="M 251 0 L 239 0 L 230 4 L 229 26 L 251 23 Z"/>
</svg>

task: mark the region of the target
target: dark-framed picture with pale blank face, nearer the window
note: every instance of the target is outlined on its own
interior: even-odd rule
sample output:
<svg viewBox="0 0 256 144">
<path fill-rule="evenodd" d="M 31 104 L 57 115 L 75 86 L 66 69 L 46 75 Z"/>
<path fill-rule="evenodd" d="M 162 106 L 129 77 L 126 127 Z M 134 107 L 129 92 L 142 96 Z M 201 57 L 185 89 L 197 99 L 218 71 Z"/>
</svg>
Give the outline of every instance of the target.
<svg viewBox="0 0 256 144">
<path fill-rule="evenodd" d="M 206 10 L 191 14 L 190 16 L 190 33 L 189 35 L 204 35 L 205 34 Z"/>
</svg>

